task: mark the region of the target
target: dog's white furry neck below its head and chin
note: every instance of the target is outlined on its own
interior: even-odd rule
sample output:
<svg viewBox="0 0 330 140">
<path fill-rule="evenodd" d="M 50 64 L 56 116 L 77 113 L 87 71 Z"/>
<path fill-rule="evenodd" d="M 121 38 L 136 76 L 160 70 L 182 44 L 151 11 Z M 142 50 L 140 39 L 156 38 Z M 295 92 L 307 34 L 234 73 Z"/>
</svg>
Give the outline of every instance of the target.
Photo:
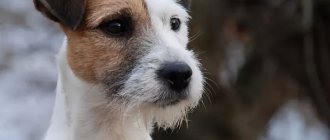
<svg viewBox="0 0 330 140">
<path fill-rule="evenodd" d="M 138 110 L 109 104 L 100 88 L 73 74 L 64 44 L 58 55 L 56 102 L 45 140 L 151 140 L 152 124 Z"/>
</svg>

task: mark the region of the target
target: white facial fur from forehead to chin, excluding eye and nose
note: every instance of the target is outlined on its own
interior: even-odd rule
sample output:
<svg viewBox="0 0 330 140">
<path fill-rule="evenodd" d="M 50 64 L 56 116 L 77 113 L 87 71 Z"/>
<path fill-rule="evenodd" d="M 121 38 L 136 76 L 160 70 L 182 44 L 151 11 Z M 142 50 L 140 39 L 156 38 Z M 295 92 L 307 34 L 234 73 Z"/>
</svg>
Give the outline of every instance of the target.
<svg viewBox="0 0 330 140">
<path fill-rule="evenodd" d="M 185 119 L 187 111 L 198 104 L 203 91 L 203 75 L 194 53 L 186 48 L 187 22 L 190 18 L 186 9 L 176 0 L 145 0 L 145 2 L 151 21 L 150 30 L 147 31 L 150 36 L 145 42 L 149 51 L 139 59 L 139 65 L 133 69 L 118 95 L 131 99 L 131 106 L 141 107 L 141 113 L 148 116 L 145 118 L 152 118 L 151 120 L 158 126 L 173 127 Z M 171 28 L 173 17 L 180 19 L 182 23 L 177 31 Z M 186 63 L 193 71 L 187 90 L 189 97 L 165 108 L 153 104 L 148 106 L 150 103 L 162 100 L 164 95 L 171 94 L 167 85 L 159 82 L 157 71 L 163 64 L 172 62 Z"/>
</svg>

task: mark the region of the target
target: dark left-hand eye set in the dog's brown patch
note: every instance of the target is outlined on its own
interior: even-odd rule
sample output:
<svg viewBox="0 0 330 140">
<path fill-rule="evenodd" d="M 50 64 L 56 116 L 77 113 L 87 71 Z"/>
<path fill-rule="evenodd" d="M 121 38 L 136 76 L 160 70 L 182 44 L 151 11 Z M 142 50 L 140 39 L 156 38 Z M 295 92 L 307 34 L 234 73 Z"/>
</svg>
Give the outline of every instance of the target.
<svg viewBox="0 0 330 140">
<path fill-rule="evenodd" d="M 109 20 L 102 23 L 99 28 L 105 34 L 114 37 L 122 37 L 132 31 L 131 20 L 129 18 Z"/>
</svg>

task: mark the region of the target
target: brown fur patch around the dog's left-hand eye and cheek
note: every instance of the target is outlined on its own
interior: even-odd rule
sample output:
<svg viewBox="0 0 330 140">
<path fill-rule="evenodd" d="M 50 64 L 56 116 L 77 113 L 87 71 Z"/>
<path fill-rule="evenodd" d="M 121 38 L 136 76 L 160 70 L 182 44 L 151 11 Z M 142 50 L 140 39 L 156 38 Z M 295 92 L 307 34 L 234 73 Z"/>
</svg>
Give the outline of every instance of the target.
<svg viewBox="0 0 330 140">
<path fill-rule="evenodd" d="M 132 16 L 134 31 L 130 38 L 112 38 L 96 28 L 120 16 L 123 10 Z M 138 58 L 144 29 L 149 25 L 144 0 L 88 0 L 83 24 L 75 31 L 62 26 L 68 37 L 67 58 L 71 69 L 88 82 L 110 85 L 121 80 L 118 76 L 127 75 Z"/>
</svg>

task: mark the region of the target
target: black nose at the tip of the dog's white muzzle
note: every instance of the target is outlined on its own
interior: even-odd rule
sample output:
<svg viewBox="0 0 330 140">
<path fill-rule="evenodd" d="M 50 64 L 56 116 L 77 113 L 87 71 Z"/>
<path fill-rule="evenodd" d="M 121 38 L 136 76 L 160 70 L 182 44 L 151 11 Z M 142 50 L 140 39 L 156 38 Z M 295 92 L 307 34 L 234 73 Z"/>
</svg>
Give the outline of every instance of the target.
<svg viewBox="0 0 330 140">
<path fill-rule="evenodd" d="M 189 85 L 192 70 L 186 63 L 175 62 L 164 65 L 157 74 L 172 90 L 181 92 Z"/>
</svg>

